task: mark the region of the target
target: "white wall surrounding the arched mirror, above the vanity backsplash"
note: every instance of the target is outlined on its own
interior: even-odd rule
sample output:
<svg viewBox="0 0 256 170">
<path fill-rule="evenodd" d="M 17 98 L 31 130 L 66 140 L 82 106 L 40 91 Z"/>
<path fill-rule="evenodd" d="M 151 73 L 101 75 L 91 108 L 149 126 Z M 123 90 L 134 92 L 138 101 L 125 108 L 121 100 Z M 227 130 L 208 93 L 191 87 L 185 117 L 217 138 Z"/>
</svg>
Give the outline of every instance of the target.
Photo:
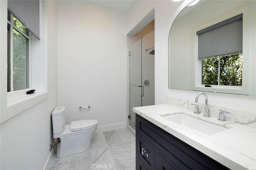
<svg viewBox="0 0 256 170">
<path fill-rule="evenodd" d="M 168 37 L 178 13 L 191 1 L 134 1 L 127 14 L 127 33 L 155 8 L 155 100 L 166 103 L 166 96 L 194 100 L 198 92 L 168 88 Z M 207 93 L 209 104 L 256 112 L 256 98 Z M 204 102 L 200 98 L 199 102 Z"/>
</svg>

